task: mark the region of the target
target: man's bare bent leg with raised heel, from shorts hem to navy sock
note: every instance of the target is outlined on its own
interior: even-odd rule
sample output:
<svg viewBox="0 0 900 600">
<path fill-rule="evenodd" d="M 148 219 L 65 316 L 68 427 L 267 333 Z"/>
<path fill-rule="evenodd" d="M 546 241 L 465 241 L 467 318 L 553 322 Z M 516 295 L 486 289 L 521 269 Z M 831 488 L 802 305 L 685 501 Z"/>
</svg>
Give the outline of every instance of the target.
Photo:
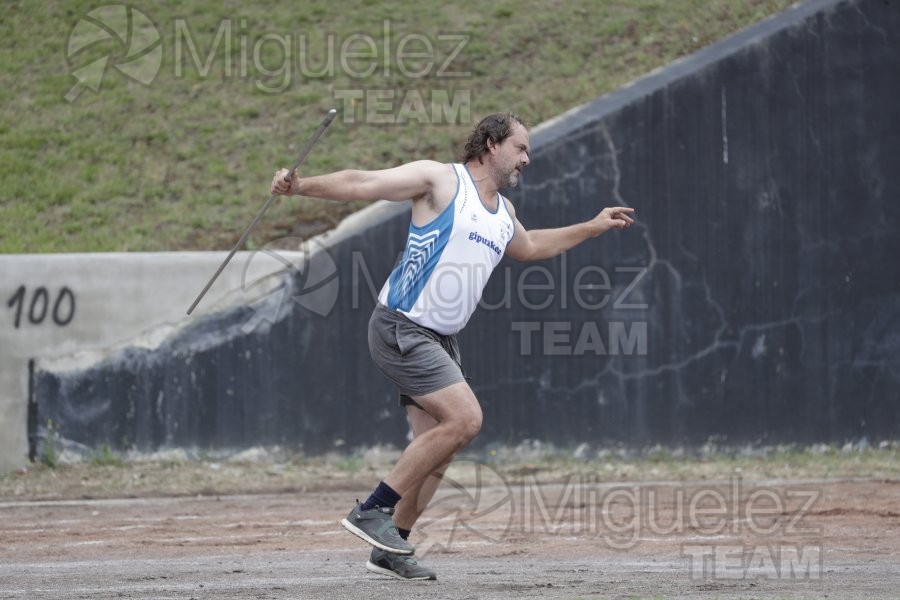
<svg viewBox="0 0 900 600">
<path fill-rule="evenodd" d="M 414 400 L 437 423 L 417 435 L 384 482 L 402 497 L 423 484 L 428 475 L 450 462 L 481 430 L 482 413 L 472 388 L 465 382 Z"/>
</svg>

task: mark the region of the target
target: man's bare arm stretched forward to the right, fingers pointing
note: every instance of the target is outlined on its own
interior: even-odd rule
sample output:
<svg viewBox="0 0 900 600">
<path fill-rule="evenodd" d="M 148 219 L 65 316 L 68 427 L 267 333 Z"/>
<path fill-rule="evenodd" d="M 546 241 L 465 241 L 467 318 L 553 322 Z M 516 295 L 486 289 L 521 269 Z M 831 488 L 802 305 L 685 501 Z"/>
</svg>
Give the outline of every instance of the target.
<svg viewBox="0 0 900 600">
<path fill-rule="evenodd" d="M 634 223 L 633 208 L 612 206 L 604 208 L 596 217 L 584 223 L 528 231 L 516 218 L 516 211 L 509 202 L 506 206 L 515 223 L 515 234 L 506 247 L 506 253 L 516 260 L 543 260 L 559 256 L 578 244 L 603 235 L 610 229 L 625 229 Z"/>
</svg>

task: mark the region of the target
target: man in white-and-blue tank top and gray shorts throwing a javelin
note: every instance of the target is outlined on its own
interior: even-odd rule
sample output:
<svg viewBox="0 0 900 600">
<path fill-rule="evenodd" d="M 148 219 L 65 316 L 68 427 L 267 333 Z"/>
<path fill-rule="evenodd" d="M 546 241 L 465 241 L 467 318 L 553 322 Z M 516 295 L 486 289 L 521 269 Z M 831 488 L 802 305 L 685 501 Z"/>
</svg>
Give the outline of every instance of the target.
<svg viewBox="0 0 900 600">
<path fill-rule="evenodd" d="M 369 321 L 369 350 L 400 389 L 413 440 L 371 496 L 341 524 L 374 546 L 366 567 L 399 579 L 436 579 L 412 557 L 410 530 L 453 456 L 481 429 L 481 407 L 460 366 L 456 333 L 469 320 L 504 254 L 541 260 L 634 221 L 633 209 L 603 209 L 585 223 L 528 231 L 499 194 L 530 162 L 528 129 L 512 114 L 482 119 L 461 164 L 430 160 L 381 171 L 345 170 L 287 180 L 272 193 L 331 200 L 412 201 L 403 257 Z"/>
</svg>

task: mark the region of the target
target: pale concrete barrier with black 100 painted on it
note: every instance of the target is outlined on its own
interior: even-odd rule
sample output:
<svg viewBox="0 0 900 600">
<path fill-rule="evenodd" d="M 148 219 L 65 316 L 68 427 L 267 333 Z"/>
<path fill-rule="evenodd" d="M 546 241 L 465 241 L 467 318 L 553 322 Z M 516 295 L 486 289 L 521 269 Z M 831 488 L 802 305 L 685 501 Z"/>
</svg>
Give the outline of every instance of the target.
<svg viewBox="0 0 900 600">
<path fill-rule="evenodd" d="M 224 307 L 252 303 L 277 286 L 286 269 L 264 252 L 240 252 L 187 317 L 224 258 L 224 252 L 0 255 L 0 469 L 28 458 L 36 369 L 79 369 L 120 347 L 156 347 Z"/>
</svg>

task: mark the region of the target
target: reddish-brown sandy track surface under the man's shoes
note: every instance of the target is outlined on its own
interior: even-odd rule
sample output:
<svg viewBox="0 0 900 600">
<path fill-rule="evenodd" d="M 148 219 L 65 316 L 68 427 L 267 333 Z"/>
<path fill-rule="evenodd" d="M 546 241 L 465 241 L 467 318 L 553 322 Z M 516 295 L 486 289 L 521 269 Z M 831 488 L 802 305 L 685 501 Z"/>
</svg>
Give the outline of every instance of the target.
<svg viewBox="0 0 900 600">
<path fill-rule="evenodd" d="M 900 594 L 897 481 L 451 476 L 412 538 L 436 582 L 365 570 L 366 492 L 0 502 L 0 598 Z"/>
</svg>

